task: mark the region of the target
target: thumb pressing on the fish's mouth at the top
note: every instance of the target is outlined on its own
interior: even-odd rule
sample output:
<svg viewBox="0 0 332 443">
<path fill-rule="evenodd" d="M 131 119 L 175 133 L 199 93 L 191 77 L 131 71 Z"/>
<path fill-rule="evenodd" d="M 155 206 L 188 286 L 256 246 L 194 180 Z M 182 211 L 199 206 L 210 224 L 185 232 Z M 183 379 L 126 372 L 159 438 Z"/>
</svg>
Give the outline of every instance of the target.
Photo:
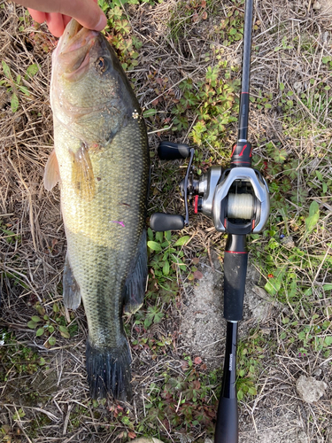
<svg viewBox="0 0 332 443">
<path fill-rule="evenodd" d="M 104 12 L 95 0 L 60 0 L 59 11 L 76 19 L 82 27 L 102 31 L 107 24 Z"/>
</svg>

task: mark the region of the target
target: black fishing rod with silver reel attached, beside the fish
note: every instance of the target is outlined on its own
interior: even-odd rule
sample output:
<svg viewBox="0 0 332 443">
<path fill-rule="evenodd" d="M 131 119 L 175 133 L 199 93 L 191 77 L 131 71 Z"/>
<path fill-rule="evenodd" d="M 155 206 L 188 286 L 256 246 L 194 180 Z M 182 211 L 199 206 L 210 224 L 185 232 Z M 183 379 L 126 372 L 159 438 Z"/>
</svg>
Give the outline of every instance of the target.
<svg viewBox="0 0 332 443">
<path fill-rule="evenodd" d="M 212 166 L 195 180 L 192 161 L 195 150 L 187 144 L 163 141 L 158 146 L 160 159 L 189 158 L 184 180 L 180 183 L 185 217 L 181 214 L 151 215 L 151 229 L 183 229 L 189 224 L 189 204 L 194 212 L 210 217 L 217 231 L 228 234 L 224 254 L 224 318 L 227 321 L 226 349 L 221 384 L 215 443 L 238 442 L 236 398 L 236 348 L 238 322 L 243 318 L 243 298 L 248 266 L 246 236 L 264 229 L 270 210 L 268 187 L 257 169 L 251 167 L 248 141 L 249 83 L 251 72 L 251 32 L 253 0 L 245 1 L 243 31 L 243 71 L 237 142 L 232 147 L 230 166 L 224 171 Z"/>
</svg>

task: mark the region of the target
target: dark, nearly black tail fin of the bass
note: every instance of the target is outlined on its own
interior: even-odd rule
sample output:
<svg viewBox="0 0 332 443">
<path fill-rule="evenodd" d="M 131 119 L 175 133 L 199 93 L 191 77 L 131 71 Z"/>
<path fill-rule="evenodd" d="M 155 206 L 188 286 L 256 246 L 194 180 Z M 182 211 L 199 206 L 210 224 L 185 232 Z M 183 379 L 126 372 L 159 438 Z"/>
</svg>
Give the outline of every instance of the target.
<svg viewBox="0 0 332 443">
<path fill-rule="evenodd" d="M 121 346 L 116 348 L 97 348 L 88 339 L 86 357 L 92 399 L 104 399 L 111 393 L 115 399 L 130 400 L 131 355 L 125 337 Z"/>
</svg>

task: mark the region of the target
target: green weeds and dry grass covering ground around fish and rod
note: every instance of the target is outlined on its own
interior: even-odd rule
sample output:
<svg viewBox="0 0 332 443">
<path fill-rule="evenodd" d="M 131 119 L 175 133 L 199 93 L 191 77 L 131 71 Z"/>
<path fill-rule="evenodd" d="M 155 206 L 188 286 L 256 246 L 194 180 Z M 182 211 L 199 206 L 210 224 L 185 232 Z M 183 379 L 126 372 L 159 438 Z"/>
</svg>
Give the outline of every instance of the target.
<svg viewBox="0 0 332 443">
<path fill-rule="evenodd" d="M 236 137 L 243 1 L 101 4 L 109 18 L 106 36 L 135 86 L 150 133 L 149 214 L 182 214 L 178 185 L 185 168 L 158 160 L 156 148 L 162 138 L 195 145 L 197 175 L 228 164 Z M 0 6 L 0 441 L 65 443 L 83 434 L 102 442 L 212 438 L 223 324 L 212 331 L 219 347 L 205 359 L 203 349 L 184 340 L 183 317 L 193 288 L 212 267 L 214 276 L 222 272 L 225 237 L 202 214 L 190 214 L 181 233 L 149 230 L 147 295 L 141 310 L 125 319 L 134 400 L 89 400 L 84 311 L 68 313 L 61 301 L 66 241 L 59 194 L 42 189 L 53 144 L 48 88 L 55 39 L 19 6 Z M 257 441 L 255 429 L 266 442 L 282 441 L 279 431 L 295 439 L 292 423 L 302 420 L 306 438 L 322 441 L 330 431 L 329 394 L 308 405 L 298 400 L 295 385 L 300 375 L 327 384 L 332 375 L 330 25 L 312 9 L 308 19 L 299 1 L 258 7 L 250 137 L 254 165 L 271 192 L 271 215 L 265 231 L 250 237 L 256 276 L 248 277 L 246 299 L 257 284 L 256 301 L 268 314 L 255 320 L 247 304 L 240 324 L 240 431 L 245 443 Z"/>
</svg>

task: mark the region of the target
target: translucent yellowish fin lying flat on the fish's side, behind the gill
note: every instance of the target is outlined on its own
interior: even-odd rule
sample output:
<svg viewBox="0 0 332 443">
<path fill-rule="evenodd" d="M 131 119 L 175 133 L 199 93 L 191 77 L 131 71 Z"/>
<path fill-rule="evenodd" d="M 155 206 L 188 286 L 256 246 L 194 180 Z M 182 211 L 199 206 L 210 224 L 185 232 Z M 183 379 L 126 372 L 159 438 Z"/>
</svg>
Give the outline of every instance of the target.
<svg viewBox="0 0 332 443">
<path fill-rule="evenodd" d="M 81 144 L 81 148 L 73 153 L 72 151 L 72 182 L 76 193 L 87 200 L 95 195 L 95 176 L 88 148 Z"/>
</svg>

